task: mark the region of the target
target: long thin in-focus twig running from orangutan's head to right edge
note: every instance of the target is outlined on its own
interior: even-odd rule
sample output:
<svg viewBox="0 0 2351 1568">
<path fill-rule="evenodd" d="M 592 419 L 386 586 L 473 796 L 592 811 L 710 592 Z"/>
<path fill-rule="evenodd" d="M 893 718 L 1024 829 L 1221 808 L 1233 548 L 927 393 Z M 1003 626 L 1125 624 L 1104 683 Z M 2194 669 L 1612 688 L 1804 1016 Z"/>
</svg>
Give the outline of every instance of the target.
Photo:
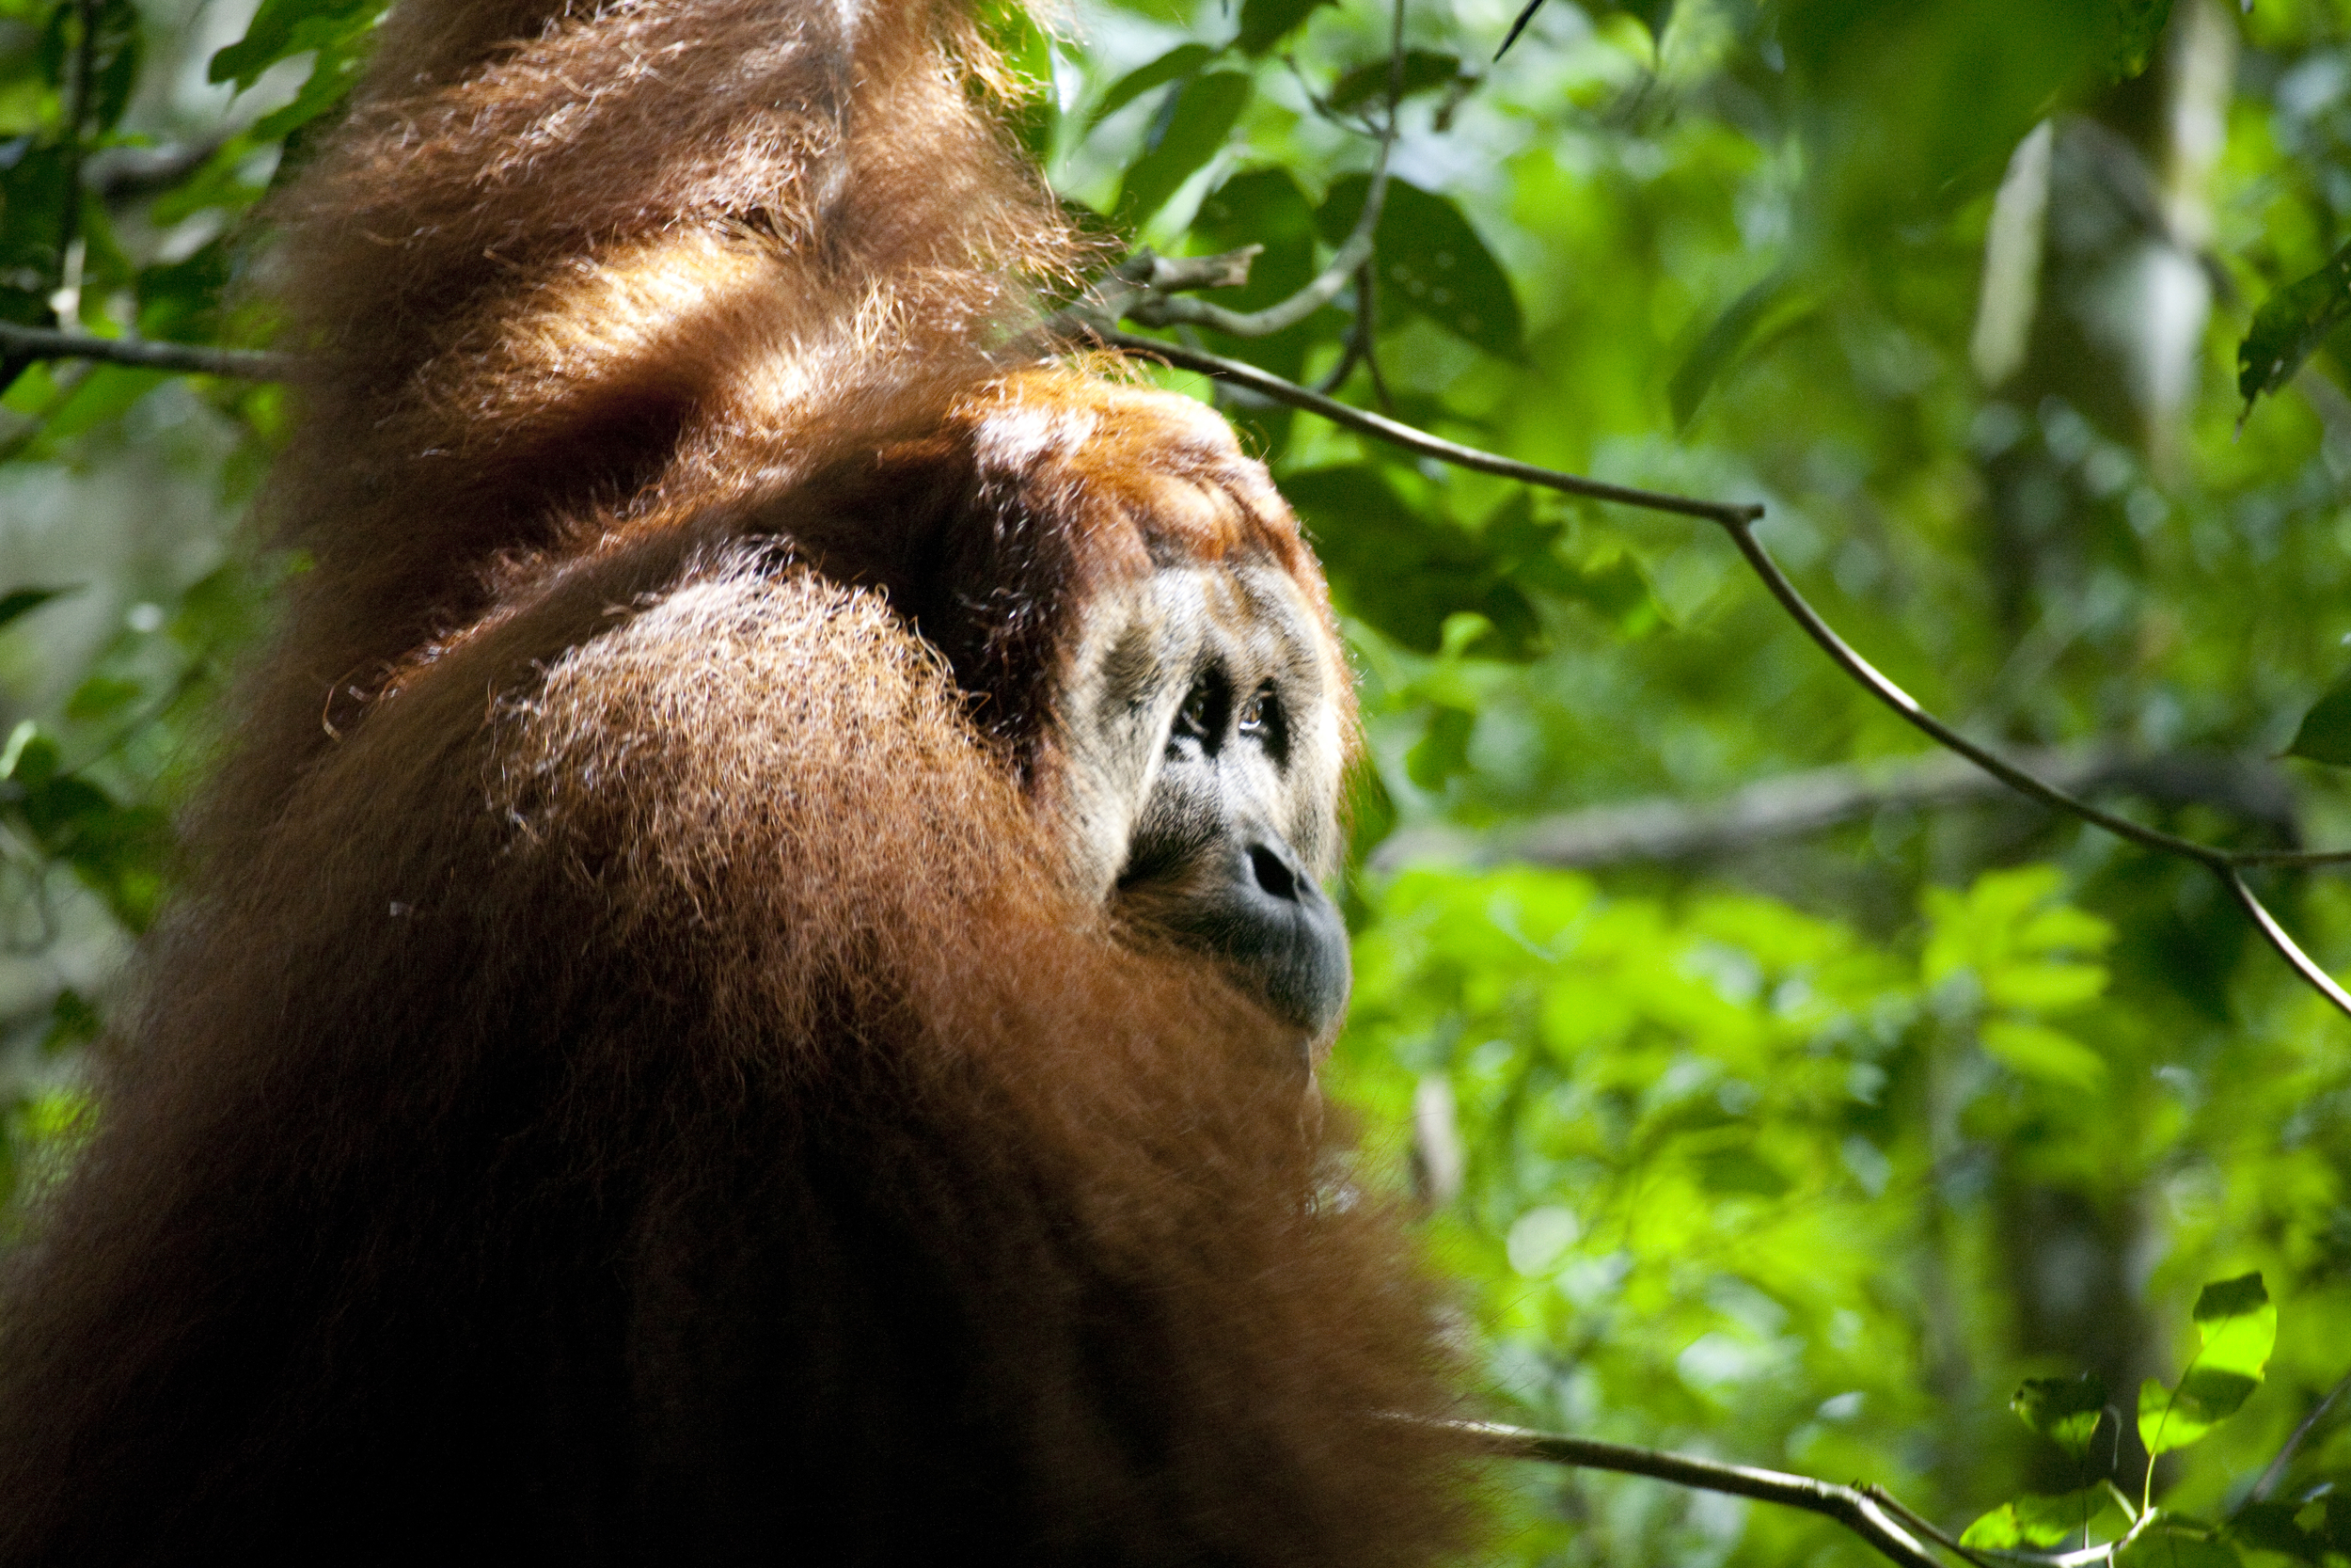
<svg viewBox="0 0 2351 1568">
<path fill-rule="evenodd" d="M 1566 496 L 1589 496 L 1594 501 L 1617 501 L 1622 505 L 1639 505 L 1653 512 L 1676 512 L 1681 517 L 1704 517 L 1730 534 L 1730 543 L 1737 548 L 1763 588 L 1780 602 L 1780 609 L 1789 614 L 1806 630 L 1806 635 L 1820 644 L 1820 649 L 1843 670 L 1855 684 L 1860 684 L 1869 696 L 1878 698 L 1893 708 L 1907 724 L 1930 736 L 1937 745 L 1944 745 L 1975 766 L 1984 769 L 2001 783 L 2005 783 L 2017 795 L 2041 802 L 2043 806 L 2055 806 L 2078 816 L 2085 823 L 2104 827 L 2106 832 L 2139 844 L 2142 849 L 2154 849 L 2158 853 L 2179 856 L 2182 860 L 2193 860 L 2219 877 L 2229 893 L 2243 905 L 2245 914 L 2252 917 L 2255 929 L 2262 933 L 2271 947 L 2278 950 L 2297 976 L 2302 976 L 2311 990 L 2335 1004 L 2346 1018 L 2351 1018 L 2351 994 L 2344 992 L 2335 980 L 2327 978 L 2318 964 L 2311 961 L 2306 952 L 2285 933 L 2285 926 L 2262 905 L 2238 867 L 2250 865 L 2276 865 L 2276 867 L 2318 867 L 2318 865 L 2344 865 L 2351 863 L 2351 849 L 2327 849 L 2327 851 L 2278 851 L 2278 849 L 2219 849 L 2215 844 L 2198 844 L 2196 839 L 2182 839 L 2179 835 L 2163 832 L 2161 827 L 2146 827 L 2144 823 L 2132 823 L 2128 816 L 2116 816 L 2114 811 L 2102 811 L 2090 802 L 2059 790 L 2057 785 L 2027 773 L 2012 762 L 1991 752 L 1951 724 L 1937 719 L 1928 712 L 1918 698 L 1888 679 L 1876 665 L 1862 658 L 1853 644 L 1836 635 L 1817 609 L 1796 590 L 1796 583 L 1780 569 L 1763 541 L 1756 538 L 1754 524 L 1763 517 L 1763 508 L 1747 501 L 1700 501 L 1695 496 L 1667 496 L 1660 491 L 1634 489 L 1629 484 L 1603 484 L 1601 480 L 1587 480 L 1582 475 L 1559 473 L 1556 468 L 1540 468 L 1535 463 L 1519 463 L 1516 458 L 1505 458 L 1493 451 L 1479 451 L 1476 447 L 1462 447 L 1425 430 L 1396 423 L 1394 418 L 1380 418 L 1378 414 L 1366 414 L 1333 397 L 1324 397 L 1312 388 L 1302 388 L 1295 381 L 1284 381 L 1272 371 L 1262 371 L 1255 364 L 1241 364 L 1239 360 L 1225 360 L 1223 355 L 1201 353 L 1197 348 L 1185 348 L 1180 343 L 1166 343 L 1159 339 L 1138 339 L 1124 331 L 1098 334 L 1107 346 L 1124 348 L 1138 355 L 1152 355 L 1168 364 L 1180 364 L 1183 369 L 1194 369 L 1204 376 L 1215 376 L 1218 381 L 1230 381 L 1232 386 L 1248 388 L 1260 397 L 1274 402 L 1286 402 L 1295 409 L 1307 409 L 1321 414 L 1335 425 L 1354 430 L 1359 435 L 1371 435 L 1375 440 L 1389 442 L 1406 451 L 1418 451 L 1422 456 L 1436 458 L 1441 463 L 1453 463 L 1455 468 L 1472 468 L 1476 473 L 1500 475 L 1505 480 L 1519 480 L 1521 484 L 1540 484 L 1542 489 L 1554 489 Z"/>
</svg>

